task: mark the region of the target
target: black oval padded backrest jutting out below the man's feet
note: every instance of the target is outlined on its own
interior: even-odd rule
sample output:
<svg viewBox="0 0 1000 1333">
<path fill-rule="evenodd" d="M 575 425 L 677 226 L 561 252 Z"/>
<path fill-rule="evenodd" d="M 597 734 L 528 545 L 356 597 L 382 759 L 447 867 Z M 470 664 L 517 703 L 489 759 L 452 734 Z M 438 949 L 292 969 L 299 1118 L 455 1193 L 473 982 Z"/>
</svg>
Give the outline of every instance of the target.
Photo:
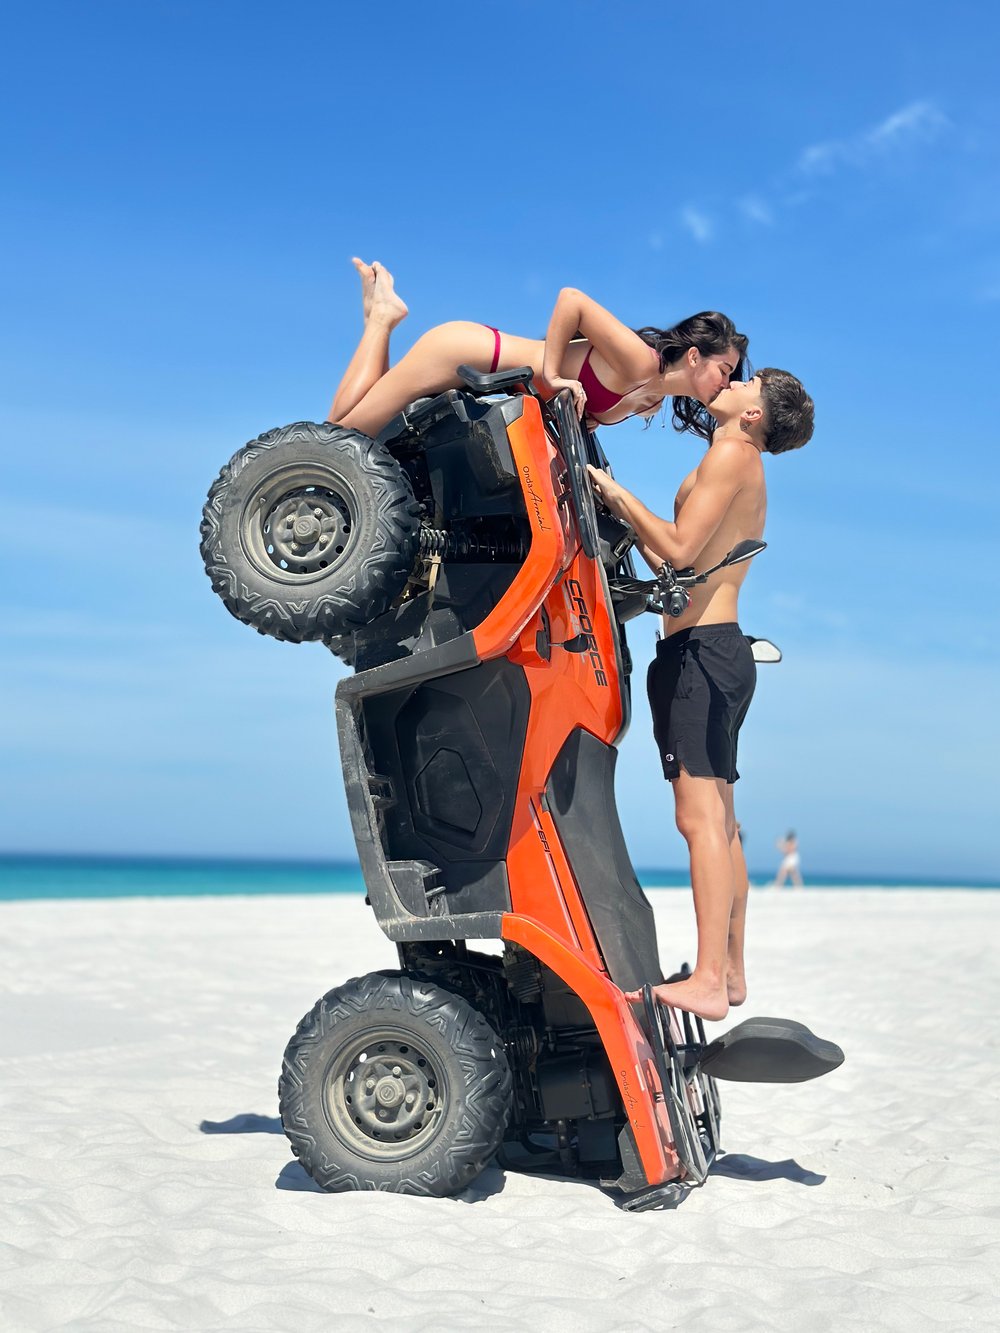
<svg viewBox="0 0 1000 1333">
<path fill-rule="evenodd" d="M 705 1046 L 701 1073 L 729 1082 L 807 1082 L 844 1064 L 844 1052 L 793 1018 L 747 1018 Z"/>
</svg>

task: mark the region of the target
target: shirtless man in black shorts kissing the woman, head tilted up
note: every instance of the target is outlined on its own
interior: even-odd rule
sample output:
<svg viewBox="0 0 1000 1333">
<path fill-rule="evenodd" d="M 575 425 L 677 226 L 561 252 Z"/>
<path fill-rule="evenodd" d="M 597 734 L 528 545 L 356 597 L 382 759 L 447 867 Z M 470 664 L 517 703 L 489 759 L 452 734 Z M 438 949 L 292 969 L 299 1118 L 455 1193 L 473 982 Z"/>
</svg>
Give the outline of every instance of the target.
<svg viewBox="0 0 1000 1333">
<path fill-rule="evenodd" d="M 712 400 L 712 444 L 684 479 L 673 523 L 659 519 L 607 472 L 591 468 L 607 508 L 629 524 L 653 569 L 709 568 L 739 541 L 761 537 L 767 512 L 764 453 L 799 449 L 812 436 L 812 399 L 787 371 L 759 371 Z M 733 786 L 736 741 L 753 696 L 756 668 L 737 624 L 737 600 L 749 563 L 720 569 L 692 591 L 649 666 L 649 705 L 664 777 L 673 786 L 677 828 L 688 844 L 697 920 L 697 962 L 684 981 L 653 993 L 663 1004 L 703 1018 L 724 1018 L 747 998 L 743 940 L 747 865 Z M 639 992 L 629 994 L 640 998 Z"/>
</svg>

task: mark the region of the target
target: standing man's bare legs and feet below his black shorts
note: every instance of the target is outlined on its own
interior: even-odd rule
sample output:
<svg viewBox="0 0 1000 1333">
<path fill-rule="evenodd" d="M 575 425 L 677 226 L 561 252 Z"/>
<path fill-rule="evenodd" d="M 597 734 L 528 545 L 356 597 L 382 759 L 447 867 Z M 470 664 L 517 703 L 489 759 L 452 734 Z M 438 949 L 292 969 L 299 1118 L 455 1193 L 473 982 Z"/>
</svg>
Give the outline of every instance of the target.
<svg viewBox="0 0 1000 1333">
<path fill-rule="evenodd" d="M 677 828 L 691 854 L 697 960 L 695 970 L 685 981 L 655 986 L 653 993 L 663 1004 L 673 1005 L 676 1009 L 687 1009 L 703 1018 L 724 1018 L 729 1012 L 727 973 L 736 900 L 732 857 L 736 826 L 732 820 L 732 793 L 727 792 L 729 784 L 723 778 L 692 777 L 684 769 L 671 785 L 677 808 Z M 737 920 L 740 972 L 745 908 L 744 897 Z"/>
</svg>

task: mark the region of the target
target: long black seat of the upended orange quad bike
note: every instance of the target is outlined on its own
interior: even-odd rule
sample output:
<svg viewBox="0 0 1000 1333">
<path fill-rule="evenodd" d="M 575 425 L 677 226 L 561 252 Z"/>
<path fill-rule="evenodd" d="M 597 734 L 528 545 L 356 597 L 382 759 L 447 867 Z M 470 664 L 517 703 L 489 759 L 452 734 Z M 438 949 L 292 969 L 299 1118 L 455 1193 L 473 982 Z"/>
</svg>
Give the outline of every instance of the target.
<svg viewBox="0 0 1000 1333">
<path fill-rule="evenodd" d="M 625 848 L 615 805 L 617 750 L 577 728 L 552 766 L 545 804 L 573 868 L 580 897 L 623 990 L 663 980 L 653 909 Z"/>
</svg>

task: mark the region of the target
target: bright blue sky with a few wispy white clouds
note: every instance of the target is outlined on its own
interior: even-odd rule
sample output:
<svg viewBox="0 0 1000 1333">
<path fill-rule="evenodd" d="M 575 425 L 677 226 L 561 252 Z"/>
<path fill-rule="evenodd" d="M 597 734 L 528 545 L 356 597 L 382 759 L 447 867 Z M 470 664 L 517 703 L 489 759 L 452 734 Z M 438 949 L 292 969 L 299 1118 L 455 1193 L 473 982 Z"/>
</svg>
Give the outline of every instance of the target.
<svg viewBox="0 0 1000 1333">
<path fill-rule="evenodd" d="M 741 617 L 785 653 L 751 864 L 793 826 L 807 873 L 1000 880 L 992 7 L 39 0 L 5 37 L 0 846 L 353 853 L 343 668 L 232 620 L 197 523 L 245 440 L 325 416 L 361 253 L 399 351 L 540 333 L 572 284 L 721 308 L 797 373 Z M 603 441 L 669 512 L 697 443 Z M 619 773 L 633 860 L 681 865 L 641 698 Z"/>
</svg>

